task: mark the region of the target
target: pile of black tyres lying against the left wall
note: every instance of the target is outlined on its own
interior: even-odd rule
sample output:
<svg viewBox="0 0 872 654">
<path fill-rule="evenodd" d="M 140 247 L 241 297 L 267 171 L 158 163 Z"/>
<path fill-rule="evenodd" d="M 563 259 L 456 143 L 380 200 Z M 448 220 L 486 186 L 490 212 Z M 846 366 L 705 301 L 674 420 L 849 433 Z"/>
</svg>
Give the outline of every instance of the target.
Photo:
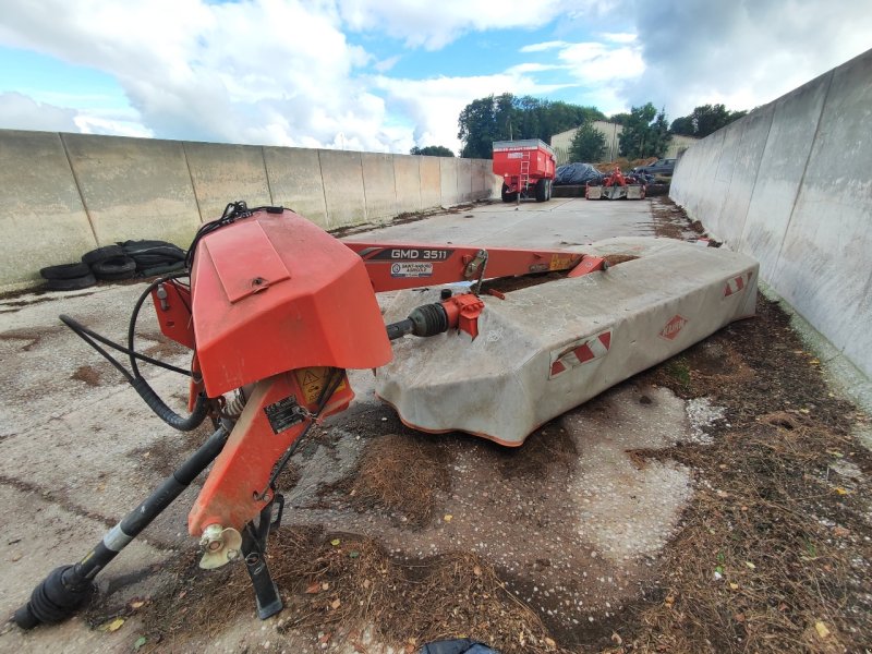
<svg viewBox="0 0 872 654">
<path fill-rule="evenodd" d="M 39 270 L 52 291 L 86 289 L 102 281 L 153 277 L 184 268 L 185 251 L 166 241 L 125 241 L 97 247 L 78 264 L 48 266 Z"/>
</svg>

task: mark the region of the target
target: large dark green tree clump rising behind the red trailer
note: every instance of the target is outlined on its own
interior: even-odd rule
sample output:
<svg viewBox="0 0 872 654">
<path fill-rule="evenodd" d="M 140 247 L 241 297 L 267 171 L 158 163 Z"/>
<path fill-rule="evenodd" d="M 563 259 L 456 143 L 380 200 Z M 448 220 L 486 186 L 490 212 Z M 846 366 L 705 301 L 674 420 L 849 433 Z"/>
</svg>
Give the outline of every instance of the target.
<svg viewBox="0 0 872 654">
<path fill-rule="evenodd" d="M 571 130 L 586 121 L 604 120 L 596 107 L 540 100 L 509 93 L 473 100 L 458 118 L 457 137 L 463 142 L 461 157 L 489 159 L 494 141 L 541 138 Z"/>
</svg>

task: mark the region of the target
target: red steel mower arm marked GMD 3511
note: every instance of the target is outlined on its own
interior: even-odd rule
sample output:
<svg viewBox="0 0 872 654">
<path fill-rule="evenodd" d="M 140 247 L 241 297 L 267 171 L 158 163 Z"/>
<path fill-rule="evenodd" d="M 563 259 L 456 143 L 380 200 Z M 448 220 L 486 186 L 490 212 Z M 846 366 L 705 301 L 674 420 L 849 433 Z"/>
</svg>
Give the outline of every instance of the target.
<svg viewBox="0 0 872 654">
<path fill-rule="evenodd" d="M 482 266 L 485 279 L 569 270 L 584 256 L 565 250 L 343 243 L 361 255 L 376 292 L 475 280 L 482 274 Z"/>
</svg>

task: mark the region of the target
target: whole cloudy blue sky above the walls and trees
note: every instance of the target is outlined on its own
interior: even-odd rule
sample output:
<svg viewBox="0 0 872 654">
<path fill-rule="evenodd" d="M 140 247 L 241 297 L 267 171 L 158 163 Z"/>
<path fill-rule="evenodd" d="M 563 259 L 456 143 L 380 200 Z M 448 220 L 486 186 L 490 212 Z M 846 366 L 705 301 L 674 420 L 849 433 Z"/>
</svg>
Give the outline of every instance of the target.
<svg viewBox="0 0 872 654">
<path fill-rule="evenodd" d="M 465 105 L 766 104 L 872 48 L 872 0 L 0 0 L 0 129 L 367 152 Z"/>
</svg>

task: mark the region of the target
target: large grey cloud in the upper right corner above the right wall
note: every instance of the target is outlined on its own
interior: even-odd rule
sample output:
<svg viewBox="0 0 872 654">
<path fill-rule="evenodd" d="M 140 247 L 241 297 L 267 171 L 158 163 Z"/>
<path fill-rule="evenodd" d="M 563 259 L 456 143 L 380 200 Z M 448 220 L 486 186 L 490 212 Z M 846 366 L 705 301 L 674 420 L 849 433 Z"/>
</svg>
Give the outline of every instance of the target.
<svg viewBox="0 0 872 654">
<path fill-rule="evenodd" d="M 848 13 L 821 0 L 628 0 L 621 13 L 646 64 L 621 95 L 670 119 L 706 102 L 765 104 L 869 49 L 872 34 L 869 0 Z"/>
</svg>

